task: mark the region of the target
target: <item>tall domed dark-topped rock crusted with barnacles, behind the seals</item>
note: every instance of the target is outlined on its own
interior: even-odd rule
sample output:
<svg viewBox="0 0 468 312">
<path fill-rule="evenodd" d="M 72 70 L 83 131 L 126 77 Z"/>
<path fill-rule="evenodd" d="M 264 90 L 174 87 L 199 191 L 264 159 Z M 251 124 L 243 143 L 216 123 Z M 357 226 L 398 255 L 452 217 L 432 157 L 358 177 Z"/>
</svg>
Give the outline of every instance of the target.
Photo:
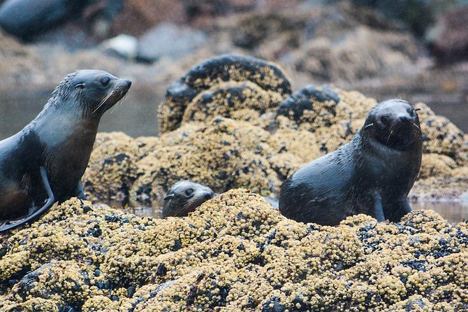
<svg viewBox="0 0 468 312">
<path fill-rule="evenodd" d="M 291 83 L 276 64 L 237 55 L 214 57 L 170 85 L 165 101 L 159 105 L 159 132 L 177 129 L 182 121 L 212 116 L 212 108 L 231 118 L 235 108 L 260 114 L 277 106 L 288 94 Z"/>
</svg>

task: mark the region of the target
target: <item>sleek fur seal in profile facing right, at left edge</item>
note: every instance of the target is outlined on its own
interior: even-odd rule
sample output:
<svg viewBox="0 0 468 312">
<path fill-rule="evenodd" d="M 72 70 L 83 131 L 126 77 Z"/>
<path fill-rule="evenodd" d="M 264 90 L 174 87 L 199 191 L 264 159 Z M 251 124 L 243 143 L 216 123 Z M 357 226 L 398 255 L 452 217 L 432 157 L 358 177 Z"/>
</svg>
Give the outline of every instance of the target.
<svg viewBox="0 0 468 312">
<path fill-rule="evenodd" d="M 0 221 L 27 215 L 0 232 L 38 218 L 54 201 L 85 197 L 81 177 L 99 120 L 130 86 L 105 71 L 70 73 L 29 125 L 0 141 Z"/>
</svg>

